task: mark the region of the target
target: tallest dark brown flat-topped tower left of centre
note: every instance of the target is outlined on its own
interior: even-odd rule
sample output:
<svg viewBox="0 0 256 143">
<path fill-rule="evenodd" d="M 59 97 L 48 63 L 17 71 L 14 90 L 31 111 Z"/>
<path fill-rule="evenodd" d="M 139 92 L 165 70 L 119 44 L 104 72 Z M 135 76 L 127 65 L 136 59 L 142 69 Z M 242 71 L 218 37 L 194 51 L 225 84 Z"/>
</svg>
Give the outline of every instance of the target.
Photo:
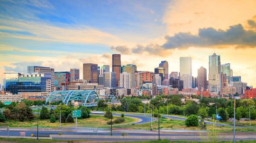
<svg viewBox="0 0 256 143">
<path fill-rule="evenodd" d="M 112 72 L 116 73 L 116 86 L 119 86 L 119 79 L 121 73 L 121 55 L 112 54 Z"/>
</svg>

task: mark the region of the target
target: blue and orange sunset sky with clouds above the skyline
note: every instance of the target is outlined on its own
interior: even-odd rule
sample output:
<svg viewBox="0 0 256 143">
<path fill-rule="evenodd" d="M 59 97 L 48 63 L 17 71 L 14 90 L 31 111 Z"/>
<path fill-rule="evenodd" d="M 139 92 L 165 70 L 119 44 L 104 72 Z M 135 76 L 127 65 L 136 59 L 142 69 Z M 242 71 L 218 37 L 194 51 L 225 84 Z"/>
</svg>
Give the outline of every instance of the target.
<svg viewBox="0 0 256 143">
<path fill-rule="evenodd" d="M 113 53 L 146 71 L 192 57 L 197 76 L 214 52 L 256 87 L 256 0 L 0 0 L 0 84 L 27 66 L 82 78 L 82 63 L 111 66 Z"/>
</svg>

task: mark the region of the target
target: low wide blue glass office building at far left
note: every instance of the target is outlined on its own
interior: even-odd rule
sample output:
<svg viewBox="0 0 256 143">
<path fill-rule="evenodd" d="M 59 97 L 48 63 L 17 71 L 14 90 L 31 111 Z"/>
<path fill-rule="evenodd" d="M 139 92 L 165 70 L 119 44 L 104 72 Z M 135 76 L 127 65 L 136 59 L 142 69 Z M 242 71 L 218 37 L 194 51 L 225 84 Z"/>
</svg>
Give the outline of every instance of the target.
<svg viewBox="0 0 256 143">
<path fill-rule="evenodd" d="M 51 79 L 51 74 L 28 73 L 18 76 L 19 93 L 46 92 L 46 80 Z"/>
</svg>

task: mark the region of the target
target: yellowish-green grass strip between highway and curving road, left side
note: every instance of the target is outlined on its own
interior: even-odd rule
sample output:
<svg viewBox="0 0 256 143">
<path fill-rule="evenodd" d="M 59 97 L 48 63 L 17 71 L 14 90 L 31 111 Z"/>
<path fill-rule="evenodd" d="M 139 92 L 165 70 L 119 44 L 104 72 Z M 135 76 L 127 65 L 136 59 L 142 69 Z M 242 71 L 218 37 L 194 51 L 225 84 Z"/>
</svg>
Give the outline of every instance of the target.
<svg viewBox="0 0 256 143">
<path fill-rule="evenodd" d="M 113 118 L 113 120 L 115 117 Z M 77 126 L 78 127 L 104 127 L 104 126 L 109 126 L 107 125 L 107 121 L 110 119 L 104 118 L 103 116 L 100 115 L 91 115 L 91 118 L 85 118 L 85 119 L 77 119 Z M 75 119 L 74 119 L 75 121 Z M 121 123 L 122 124 L 129 124 L 129 123 L 134 123 L 137 122 L 137 118 L 130 118 L 130 117 L 125 117 L 125 122 Z M 115 124 L 114 124 L 115 125 Z M 0 126 L 9 126 L 9 127 L 36 127 L 37 126 L 37 120 L 32 120 L 32 121 L 24 121 L 24 122 L 19 122 L 19 121 L 6 121 L 5 123 L 0 123 Z M 62 127 L 74 127 L 75 123 L 62 123 Z M 57 128 L 59 127 L 59 121 L 56 120 L 55 123 L 50 123 L 50 119 L 46 120 L 39 120 L 39 127 L 53 127 Z"/>
</svg>

